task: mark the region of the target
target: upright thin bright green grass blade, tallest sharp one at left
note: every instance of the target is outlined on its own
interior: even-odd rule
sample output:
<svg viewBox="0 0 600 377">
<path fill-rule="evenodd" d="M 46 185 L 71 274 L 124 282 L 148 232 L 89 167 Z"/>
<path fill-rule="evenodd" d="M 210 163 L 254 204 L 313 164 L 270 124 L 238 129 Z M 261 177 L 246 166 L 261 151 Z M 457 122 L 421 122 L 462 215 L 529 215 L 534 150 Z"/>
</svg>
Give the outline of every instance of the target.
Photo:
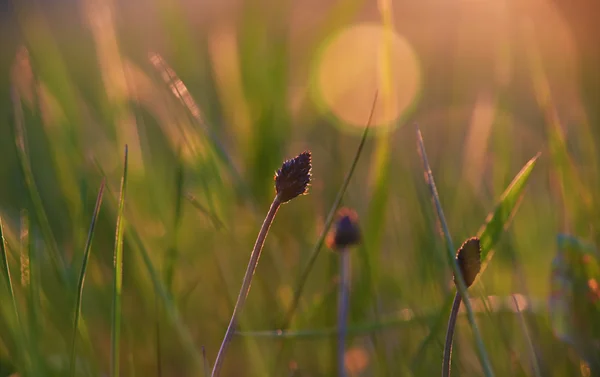
<svg viewBox="0 0 600 377">
<path fill-rule="evenodd" d="M 125 158 L 123 163 L 123 177 L 121 178 L 121 193 L 119 194 L 119 207 L 117 212 L 117 229 L 115 231 L 114 251 L 114 290 L 113 290 L 113 317 L 111 334 L 111 376 L 119 376 L 119 352 L 121 339 L 121 293 L 123 289 L 123 229 L 125 190 L 127 189 L 127 145 L 125 145 Z"/>
</svg>

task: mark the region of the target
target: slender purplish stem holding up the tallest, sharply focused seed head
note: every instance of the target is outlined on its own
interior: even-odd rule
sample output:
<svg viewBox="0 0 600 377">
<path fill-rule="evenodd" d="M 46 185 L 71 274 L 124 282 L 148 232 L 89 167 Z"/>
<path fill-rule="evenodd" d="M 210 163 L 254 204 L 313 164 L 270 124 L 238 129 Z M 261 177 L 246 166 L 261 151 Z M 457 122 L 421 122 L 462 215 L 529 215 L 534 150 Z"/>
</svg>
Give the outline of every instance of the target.
<svg viewBox="0 0 600 377">
<path fill-rule="evenodd" d="M 277 214 L 277 210 L 280 206 L 281 201 L 279 200 L 278 195 L 273 200 L 273 203 L 271 203 L 271 208 L 269 208 L 267 217 L 265 218 L 265 221 L 263 222 L 263 225 L 260 228 L 260 232 L 258 233 L 258 237 L 256 238 L 256 243 L 254 244 L 254 249 L 252 250 L 252 254 L 250 255 L 250 261 L 248 262 L 248 268 L 246 269 L 246 274 L 244 275 L 244 280 L 242 281 L 242 288 L 240 289 L 240 293 L 233 308 L 231 320 L 229 321 L 229 326 L 227 326 L 225 337 L 223 338 L 223 342 L 221 343 L 221 347 L 219 348 L 219 353 L 217 354 L 217 359 L 215 360 L 215 365 L 211 374 L 212 377 L 217 377 L 221 372 L 221 367 L 223 366 L 223 360 L 225 358 L 225 352 L 227 352 L 227 347 L 229 346 L 231 338 L 235 333 L 235 328 L 237 327 L 238 313 L 244 307 L 246 297 L 248 297 L 248 292 L 250 292 L 252 277 L 254 276 L 254 272 L 256 271 L 256 266 L 258 265 L 260 253 L 265 243 L 265 239 L 267 238 L 267 234 L 269 233 L 269 228 L 271 227 L 273 219 L 275 219 L 275 215 Z"/>
</svg>

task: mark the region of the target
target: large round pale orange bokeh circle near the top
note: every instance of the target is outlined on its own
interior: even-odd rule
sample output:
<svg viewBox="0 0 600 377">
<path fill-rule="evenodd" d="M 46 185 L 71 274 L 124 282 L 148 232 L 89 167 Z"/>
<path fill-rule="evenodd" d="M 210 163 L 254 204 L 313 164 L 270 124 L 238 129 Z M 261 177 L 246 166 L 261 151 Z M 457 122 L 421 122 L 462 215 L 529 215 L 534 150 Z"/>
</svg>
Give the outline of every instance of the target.
<svg viewBox="0 0 600 377">
<path fill-rule="evenodd" d="M 416 55 L 406 39 L 378 24 L 361 24 L 326 42 L 313 80 L 320 104 L 342 121 L 364 126 L 373 97 L 373 125 L 392 126 L 420 87 Z"/>
</svg>

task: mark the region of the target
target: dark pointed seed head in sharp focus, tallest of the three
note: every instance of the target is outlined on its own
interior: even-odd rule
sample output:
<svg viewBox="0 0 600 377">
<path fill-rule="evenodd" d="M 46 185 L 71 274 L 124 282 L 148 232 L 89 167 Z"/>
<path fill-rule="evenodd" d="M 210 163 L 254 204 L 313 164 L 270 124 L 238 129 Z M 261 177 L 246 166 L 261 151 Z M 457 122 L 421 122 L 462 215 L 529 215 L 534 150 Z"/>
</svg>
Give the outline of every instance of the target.
<svg viewBox="0 0 600 377">
<path fill-rule="evenodd" d="M 310 151 L 287 160 L 275 173 L 275 190 L 282 203 L 308 192 L 312 160 Z"/>
</svg>

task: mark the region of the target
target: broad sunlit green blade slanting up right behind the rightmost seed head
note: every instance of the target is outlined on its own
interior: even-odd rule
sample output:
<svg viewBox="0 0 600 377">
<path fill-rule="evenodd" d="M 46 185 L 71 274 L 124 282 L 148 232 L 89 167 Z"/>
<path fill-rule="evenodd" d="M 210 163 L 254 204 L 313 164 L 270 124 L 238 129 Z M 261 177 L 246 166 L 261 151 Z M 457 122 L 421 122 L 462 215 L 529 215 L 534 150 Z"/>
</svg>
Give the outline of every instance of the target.
<svg viewBox="0 0 600 377">
<path fill-rule="evenodd" d="M 477 233 L 481 242 L 482 260 L 481 270 L 479 271 L 478 276 L 481 276 L 487 267 L 487 264 L 494 256 L 493 247 L 496 242 L 498 242 L 502 232 L 504 232 L 507 224 L 512 219 L 539 156 L 540 154 L 538 153 L 523 166 L 510 185 L 504 190 L 502 196 L 500 196 L 500 201 L 496 205 L 494 212 L 488 215 L 485 225 L 483 225 Z M 475 280 L 477 281 L 477 278 Z"/>
</svg>

